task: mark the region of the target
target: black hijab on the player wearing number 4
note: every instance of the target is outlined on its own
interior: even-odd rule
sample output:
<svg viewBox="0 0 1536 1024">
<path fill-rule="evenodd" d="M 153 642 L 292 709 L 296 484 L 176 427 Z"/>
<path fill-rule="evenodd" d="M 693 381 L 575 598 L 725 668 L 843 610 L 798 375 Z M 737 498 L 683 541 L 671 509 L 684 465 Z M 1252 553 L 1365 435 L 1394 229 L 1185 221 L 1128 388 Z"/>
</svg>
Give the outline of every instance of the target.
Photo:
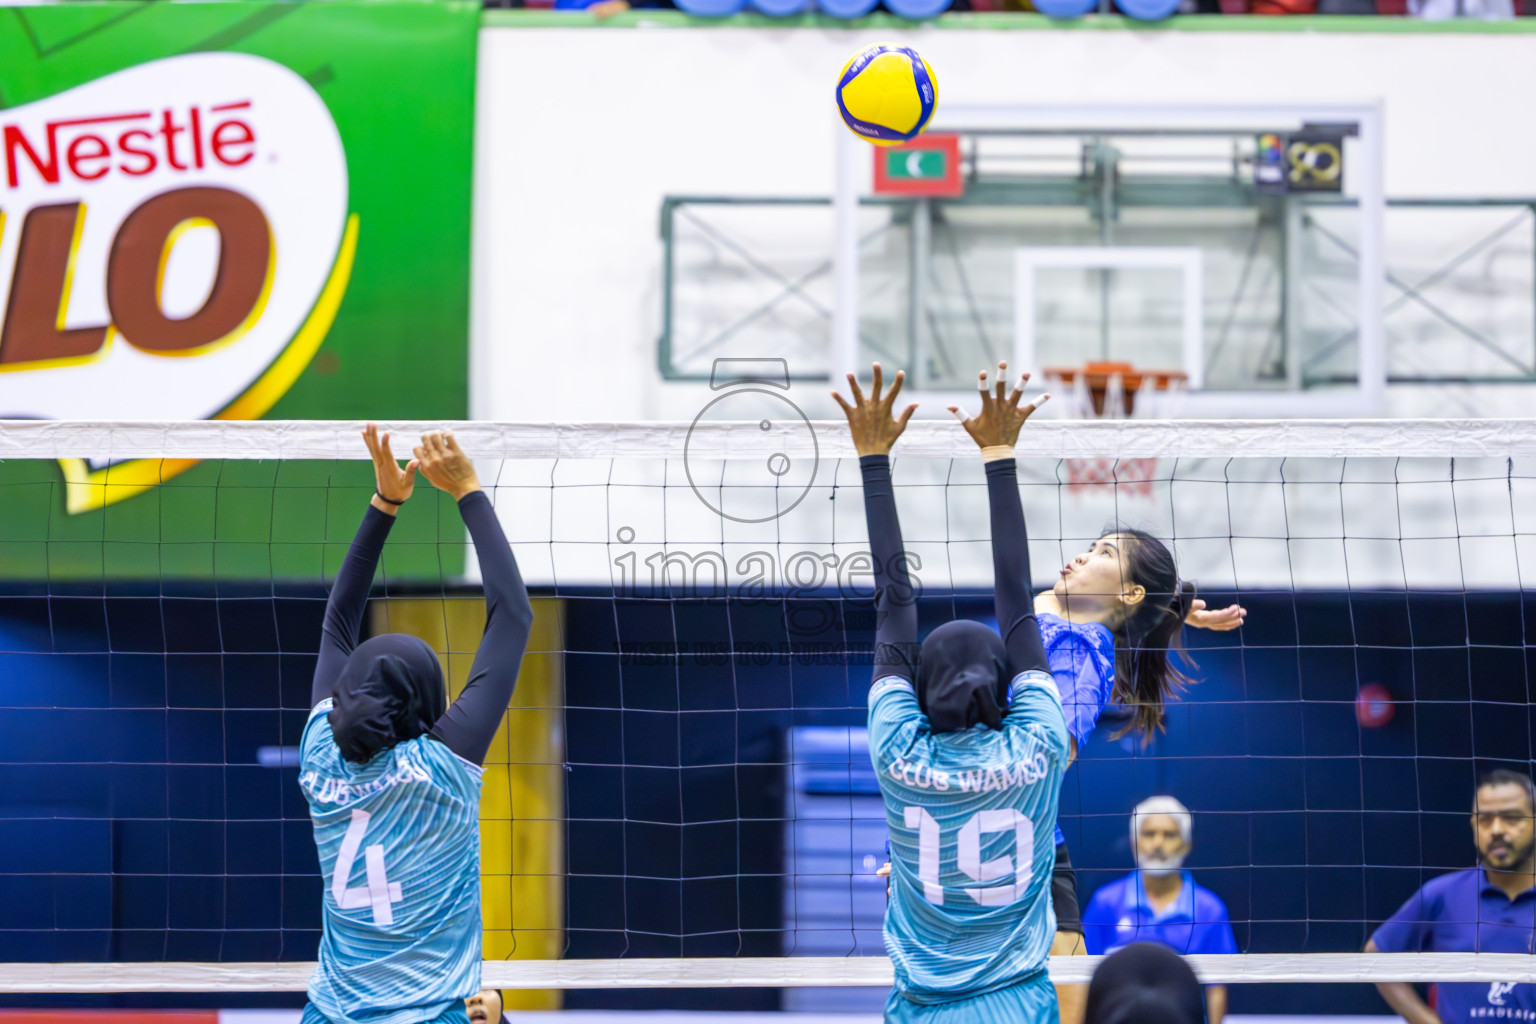
<svg viewBox="0 0 1536 1024">
<path fill-rule="evenodd" d="M 341 755 L 355 765 L 422 735 L 447 705 L 436 652 L 404 633 L 359 643 L 336 679 L 333 697 L 330 731 Z"/>
</svg>

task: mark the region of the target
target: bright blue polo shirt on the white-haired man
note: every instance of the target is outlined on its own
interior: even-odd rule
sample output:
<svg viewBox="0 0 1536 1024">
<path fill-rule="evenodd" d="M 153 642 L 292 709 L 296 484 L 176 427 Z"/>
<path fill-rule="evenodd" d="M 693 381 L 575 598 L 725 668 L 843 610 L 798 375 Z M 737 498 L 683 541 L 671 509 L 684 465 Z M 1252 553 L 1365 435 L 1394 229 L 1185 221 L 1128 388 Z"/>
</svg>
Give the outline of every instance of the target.
<svg viewBox="0 0 1536 1024">
<path fill-rule="evenodd" d="M 1238 952 L 1227 904 L 1187 870 L 1174 904 L 1161 913 L 1152 909 L 1138 870 L 1095 892 L 1083 910 L 1083 941 L 1091 956 L 1130 943 L 1158 943 L 1181 955 Z"/>
</svg>

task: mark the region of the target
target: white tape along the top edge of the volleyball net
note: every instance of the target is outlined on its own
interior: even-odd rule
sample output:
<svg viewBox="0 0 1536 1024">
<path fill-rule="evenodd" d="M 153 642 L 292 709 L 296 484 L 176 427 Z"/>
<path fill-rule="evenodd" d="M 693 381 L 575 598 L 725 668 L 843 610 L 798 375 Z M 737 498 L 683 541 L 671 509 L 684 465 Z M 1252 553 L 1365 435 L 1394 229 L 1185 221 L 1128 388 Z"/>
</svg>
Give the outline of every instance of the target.
<svg viewBox="0 0 1536 1024">
<path fill-rule="evenodd" d="M 364 424 L 346 421 L 0 421 L 0 459 L 359 459 Z M 399 438 L 452 427 L 482 459 L 699 459 L 763 451 L 757 422 L 498 424 L 379 422 Z M 790 457 L 854 454 L 848 427 L 814 421 L 774 444 Z M 914 422 L 895 454 L 975 453 L 952 419 Z M 1018 438 L 1023 459 L 1505 457 L 1536 456 L 1536 419 L 1041 421 Z"/>
</svg>

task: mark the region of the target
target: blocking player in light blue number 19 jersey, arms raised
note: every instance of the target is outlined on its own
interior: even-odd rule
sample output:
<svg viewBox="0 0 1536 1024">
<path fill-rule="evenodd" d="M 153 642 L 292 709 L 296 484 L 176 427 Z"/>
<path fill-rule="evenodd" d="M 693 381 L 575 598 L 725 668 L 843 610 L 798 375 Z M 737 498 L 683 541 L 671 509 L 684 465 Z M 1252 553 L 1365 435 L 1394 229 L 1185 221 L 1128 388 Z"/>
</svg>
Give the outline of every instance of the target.
<svg viewBox="0 0 1536 1024">
<path fill-rule="evenodd" d="M 891 829 L 885 949 L 894 1024 L 1057 1024 L 1046 958 L 1055 938 L 1051 874 L 1061 772 L 1071 751 L 1061 692 L 1051 677 L 1029 593 L 1029 536 L 1012 444 L 1035 410 L 1021 387 L 983 387 L 983 418 L 966 419 L 982 447 L 992 522 L 992 602 L 998 629 L 969 620 L 919 643 L 917 588 L 908 574 L 891 481 L 891 410 L 880 364 L 865 398 L 854 376 L 848 413 L 863 477 L 876 579 L 869 758 Z M 998 376 L 1006 367 L 998 364 Z"/>
</svg>

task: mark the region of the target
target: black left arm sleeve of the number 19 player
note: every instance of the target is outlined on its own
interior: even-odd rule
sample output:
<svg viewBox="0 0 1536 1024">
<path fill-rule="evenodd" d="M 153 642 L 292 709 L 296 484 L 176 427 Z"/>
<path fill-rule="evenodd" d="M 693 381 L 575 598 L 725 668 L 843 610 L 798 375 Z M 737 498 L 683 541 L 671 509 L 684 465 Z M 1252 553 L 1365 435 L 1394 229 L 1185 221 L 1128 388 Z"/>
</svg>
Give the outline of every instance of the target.
<svg viewBox="0 0 1536 1024">
<path fill-rule="evenodd" d="M 874 677 L 902 676 L 917 682 L 917 594 L 906 573 L 902 522 L 895 516 L 891 459 L 859 459 L 865 487 L 865 520 L 874 557 Z"/>
</svg>

